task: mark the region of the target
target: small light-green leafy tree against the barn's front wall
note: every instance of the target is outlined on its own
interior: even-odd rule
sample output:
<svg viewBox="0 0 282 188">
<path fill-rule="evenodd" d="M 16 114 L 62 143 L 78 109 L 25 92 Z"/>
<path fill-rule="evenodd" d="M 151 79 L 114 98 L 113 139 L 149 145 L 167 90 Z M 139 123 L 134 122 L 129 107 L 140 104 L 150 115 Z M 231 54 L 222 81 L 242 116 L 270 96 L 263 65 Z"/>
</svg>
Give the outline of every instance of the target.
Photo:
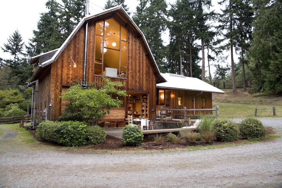
<svg viewBox="0 0 282 188">
<path fill-rule="evenodd" d="M 91 122 L 94 121 L 97 125 L 99 119 L 103 119 L 105 115 L 110 113 L 113 107 L 119 107 L 122 101 L 111 98 L 111 93 L 118 96 L 126 96 L 125 90 L 116 89 L 122 87 L 121 82 L 111 82 L 104 78 L 105 84 L 102 84 L 100 89 L 88 88 L 84 89 L 81 85 L 73 85 L 66 93 L 61 94 L 61 98 L 68 99 L 70 104 L 67 107 L 67 112 L 64 117 L 69 114 L 71 117 L 77 117 L 77 120 Z"/>
</svg>

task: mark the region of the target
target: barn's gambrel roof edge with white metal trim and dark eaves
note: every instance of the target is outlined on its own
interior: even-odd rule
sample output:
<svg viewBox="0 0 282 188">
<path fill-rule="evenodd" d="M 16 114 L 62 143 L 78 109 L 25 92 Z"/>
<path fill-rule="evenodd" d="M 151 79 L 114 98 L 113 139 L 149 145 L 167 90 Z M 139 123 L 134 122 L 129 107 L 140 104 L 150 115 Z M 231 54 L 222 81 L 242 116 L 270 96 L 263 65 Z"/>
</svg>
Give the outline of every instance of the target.
<svg viewBox="0 0 282 188">
<path fill-rule="evenodd" d="M 71 32 L 70 36 L 68 36 L 68 38 L 65 40 L 65 42 L 62 44 L 62 46 L 59 49 L 56 50 L 52 50 L 50 52 L 46 52 L 44 54 L 40 54 L 38 56 L 34 56 L 32 57 L 30 63 L 35 63 L 38 62 L 39 66 L 36 68 L 36 71 L 34 72 L 34 74 L 32 75 L 32 77 L 30 78 L 30 81 L 32 81 L 32 79 L 34 79 L 34 77 L 36 76 L 36 74 L 38 73 L 38 71 L 40 70 L 40 68 L 43 68 L 45 66 L 50 65 L 51 63 L 55 62 L 58 57 L 60 56 L 60 54 L 64 51 L 64 49 L 66 48 L 66 46 L 69 44 L 69 42 L 71 41 L 71 39 L 75 36 L 75 34 L 78 32 L 78 30 L 83 26 L 83 24 L 90 20 L 90 19 L 97 19 L 97 21 L 100 21 L 102 19 L 105 19 L 107 17 L 113 17 L 116 16 L 116 14 L 119 15 L 119 19 L 122 19 L 124 22 L 126 22 L 126 27 L 133 29 L 134 33 L 136 35 L 138 35 L 138 37 L 142 38 L 142 41 L 144 42 L 144 45 L 142 45 L 145 50 L 147 50 L 147 54 L 146 56 L 151 60 L 149 61 L 149 63 L 151 64 L 153 70 L 154 70 L 154 75 L 157 78 L 157 83 L 161 83 L 161 82 L 165 82 L 166 80 L 164 79 L 164 77 L 160 74 L 160 70 L 158 68 L 158 65 L 156 64 L 156 61 L 154 59 L 154 56 L 149 48 L 149 45 L 146 41 L 146 38 L 144 36 L 144 34 L 142 33 L 142 31 L 138 28 L 138 26 L 136 25 L 136 23 L 134 23 L 134 21 L 129 17 L 129 15 L 126 13 L 126 11 L 124 10 L 124 8 L 119 5 L 116 7 L 113 7 L 111 9 L 107 9 L 104 10 L 100 13 L 97 13 L 95 15 L 89 15 L 89 16 L 85 16 L 75 27 L 75 29 Z M 43 58 L 44 56 L 47 56 L 49 58 Z M 50 54 L 53 54 L 52 56 Z M 44 61 L 42 61 L 42 59 L 44 59 Z"/>
</svg>

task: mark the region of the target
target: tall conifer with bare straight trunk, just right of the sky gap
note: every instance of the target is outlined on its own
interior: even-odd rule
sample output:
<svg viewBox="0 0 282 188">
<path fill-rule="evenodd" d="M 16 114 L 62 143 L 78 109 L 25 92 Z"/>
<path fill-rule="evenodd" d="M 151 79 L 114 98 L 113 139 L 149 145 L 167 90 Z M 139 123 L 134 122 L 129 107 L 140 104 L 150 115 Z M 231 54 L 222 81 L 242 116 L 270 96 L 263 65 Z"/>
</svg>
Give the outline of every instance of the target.
<svg viewBox="0 0 282 188">
<path fill-rule="evenodd" d="M 236 44 L 236 36 L 237 30 L 235 29 L 235 21 L 234 16 L 236 12 L 236 0 L 223 0 L 220 1 L 220 5 L 225 5 L 225 9 L 222 10 L 222 15 L 220 15 L 219 21 L 221 22 L 221 25 L 219 26 L 219 29 L 221 31 L 226 30 L 226 33 L 223 34 L 224 39 L 228 40 L 226 44 L 222 46 L 224 50 L 230 49 L 230 56 L 231 56 L 231 74 L 232 74 L 232 84 L 233 84 L 233 92 L 236 92 L 236 81 L 235 81 L 235 65 L 234 65 L 234 58 L 233 58 L 233 47 Z"/>
</svg>

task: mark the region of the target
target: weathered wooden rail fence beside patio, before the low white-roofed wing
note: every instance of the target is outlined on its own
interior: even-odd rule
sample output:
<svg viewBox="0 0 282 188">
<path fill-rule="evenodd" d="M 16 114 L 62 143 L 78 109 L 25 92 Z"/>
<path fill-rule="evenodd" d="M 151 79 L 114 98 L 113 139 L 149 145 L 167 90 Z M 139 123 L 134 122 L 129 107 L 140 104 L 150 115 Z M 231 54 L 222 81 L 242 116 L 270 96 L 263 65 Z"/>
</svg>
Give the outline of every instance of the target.
<svg viewBox="0 0 282 188">
<path fill-rule="evenodd" d="M 163 113 L 163 111 L 165 111 L 165 113 Z M 173 111 L 180 111 L 183 112 L 183 114 L 170 114 L 169 112 L 173 112 Z M 191 114 L 187 114 L 187 112 L 189 111 L 193 111 L 195 113 L 195 111 L 215 111 L 215 115 L 205 115 L 205 116 L 213 116 L 218 118 L 219 116 L 219 107 L 215 106 L 215 108 L 209 108 L 209 109 L 186 109 L 186 107 L 183 107 L 183 109 L 163 109 L 163 107 L 161 106 L 160 108 L 160 115 L 161 115 L 161 119 L 163 118 L 163 115 L 168 115 L 168 116 L 183 116 L 184 118 L 189 117 L 189 116 L 201 116 L 199 114 L 195 114 L 195 115 L 191 115 Z M 204 115 L 204 114 L 203 114 Z"/>
</svg>

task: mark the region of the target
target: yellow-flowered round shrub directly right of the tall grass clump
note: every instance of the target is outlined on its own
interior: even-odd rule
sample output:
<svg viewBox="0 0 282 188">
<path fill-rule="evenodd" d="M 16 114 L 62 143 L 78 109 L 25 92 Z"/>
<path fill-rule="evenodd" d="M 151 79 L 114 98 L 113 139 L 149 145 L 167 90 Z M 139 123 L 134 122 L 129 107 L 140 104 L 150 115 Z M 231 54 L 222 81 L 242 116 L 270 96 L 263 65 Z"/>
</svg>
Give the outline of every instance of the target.
<svg viewBox="0 0 282 188">
<path fill-rule="evenodd" d="M 216 139 L 218 141 L 233 142 L 239 139 L 238 125 L 234 122 L 230 120 L 216 120 L 213 126 L 216 130 Z"/>
</svg>

